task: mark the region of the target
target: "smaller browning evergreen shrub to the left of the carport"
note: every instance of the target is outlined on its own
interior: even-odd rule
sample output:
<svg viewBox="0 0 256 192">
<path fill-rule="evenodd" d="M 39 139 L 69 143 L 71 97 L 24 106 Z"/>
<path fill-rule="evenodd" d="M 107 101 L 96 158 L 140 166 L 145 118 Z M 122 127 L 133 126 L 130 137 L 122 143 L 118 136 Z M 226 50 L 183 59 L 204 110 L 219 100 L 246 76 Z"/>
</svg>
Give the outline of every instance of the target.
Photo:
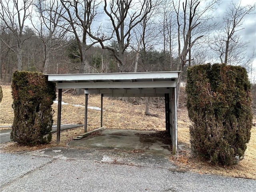
<svg viewBox="0 0 256 192">
<path fill-rule="evenodd" d="M 52 139 L 52 104 L 55 84 L 40 72 L 16 71 L 12 75 L 14 120 L 11 139 L 22 145 L 49 143 Z"/>
</svg>

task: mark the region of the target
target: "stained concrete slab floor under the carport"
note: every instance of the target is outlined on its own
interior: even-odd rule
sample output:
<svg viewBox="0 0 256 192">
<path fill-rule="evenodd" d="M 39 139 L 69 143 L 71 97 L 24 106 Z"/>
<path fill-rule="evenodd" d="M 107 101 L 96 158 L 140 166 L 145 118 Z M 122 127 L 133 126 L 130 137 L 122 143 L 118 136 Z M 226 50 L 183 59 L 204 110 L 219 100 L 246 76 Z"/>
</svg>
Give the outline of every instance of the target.
<svg viewBox="0 0 256 192">
<path fill-rule="evenodd" d="M 68 146 L 170 155 L 170 144 L 163 140 L 156 131 L 104 129 L 81 140 L 70 141 Z"/>
</svg>

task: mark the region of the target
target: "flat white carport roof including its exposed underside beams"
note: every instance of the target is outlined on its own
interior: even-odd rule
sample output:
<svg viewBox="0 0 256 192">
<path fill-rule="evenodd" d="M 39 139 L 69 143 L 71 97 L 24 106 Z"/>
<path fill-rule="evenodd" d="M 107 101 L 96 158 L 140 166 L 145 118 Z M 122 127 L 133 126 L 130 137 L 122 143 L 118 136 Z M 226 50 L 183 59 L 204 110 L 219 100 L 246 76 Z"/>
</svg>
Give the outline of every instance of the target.
<svg viewBox="0 0 256 192">
<path fill-rule="evenodd" d="M 86 94 L 104 96 L 164 96 L 168 88 L 176 87 L 180 71 L 49 74 L 48 81 L 56 82 L 58 89 L 83 88 Z"/>
</svg>

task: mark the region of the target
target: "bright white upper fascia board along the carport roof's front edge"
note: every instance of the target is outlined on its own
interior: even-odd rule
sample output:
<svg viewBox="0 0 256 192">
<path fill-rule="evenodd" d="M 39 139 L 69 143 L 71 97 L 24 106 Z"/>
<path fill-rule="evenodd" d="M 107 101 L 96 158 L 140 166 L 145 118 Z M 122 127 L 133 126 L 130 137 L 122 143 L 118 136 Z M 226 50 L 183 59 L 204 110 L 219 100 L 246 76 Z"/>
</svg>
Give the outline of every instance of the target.
<svg viewBox="0 0 256 192">
<path fill-rule="evenodd" d="M 89 74 L 49 74 L 48 81 L 94 81 L 94 80 L 137 80 L 137 79 L 177 79 L 178 71 L 136 72 L 136 73 L 89 73 Z"/>
</svg>

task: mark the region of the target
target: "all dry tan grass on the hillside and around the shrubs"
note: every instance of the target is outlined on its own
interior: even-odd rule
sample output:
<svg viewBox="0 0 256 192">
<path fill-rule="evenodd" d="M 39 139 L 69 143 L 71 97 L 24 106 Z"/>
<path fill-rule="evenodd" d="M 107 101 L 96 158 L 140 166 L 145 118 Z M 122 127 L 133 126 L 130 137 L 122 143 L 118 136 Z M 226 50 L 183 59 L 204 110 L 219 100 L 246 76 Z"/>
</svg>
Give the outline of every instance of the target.
<svg viewBox="0 0 256 192">
<path fill-rule="evenodd" d="M 12 96 L 10 86 L 2 86 L 4 98 L 0 104 L 0 125 L 10 125 L 13 120 Z M 63 94 L 62 100 L 68 104 L 84 105 L 84 96 L 73 96 Z M 184 103 L 184 101 L 181 101 Z M 100 107 L 100 96 L 90 95 L 88 106 Z M 57 104 L 53 104 L 54 123 L 57 118 Z M 129 102 L 104 98 L 103 101 L 103 126 L 107 128 L 137 129 L 137 130 L 164 130 L 165 115 L 164 108 L 152 107 L 151 112 L 158 117 L 145 116 L 144 104 L 134 105 Z M 255 122 L 256 120 L 254 120 Z M 62 124 L 83 124 L 84 107 L 72 105 L 62 106 Z M 199 173 L 212 173 L 232 177 L 256 179 L 256 127 L 252 127 L 251 139 L 247 145 L 245 157 L 236 166 L 212 166 L 199 158 L 191 155 L 189 126 L 190 120 L 186 108 L 178 110 L 178 146 L 181 147 L 178 155 L 170 156 L 170 160 L 177 164 L 181 170 L 192 170 Z M 88 130 L 100 126 L 100 111 L 88 110 Z M 61 132 L 59 146 L 67 146 L 67 143 L 75 136 L 83 133 L 83 128 L 76 128 Z M 1 150 L 6 152 L 17 152 L 50 148 L 56 145 L 56 134 L 52 136 L 52 142 L 48 145 L 27 147 L 16 143 L 1 144 Z"/>
</svg>

